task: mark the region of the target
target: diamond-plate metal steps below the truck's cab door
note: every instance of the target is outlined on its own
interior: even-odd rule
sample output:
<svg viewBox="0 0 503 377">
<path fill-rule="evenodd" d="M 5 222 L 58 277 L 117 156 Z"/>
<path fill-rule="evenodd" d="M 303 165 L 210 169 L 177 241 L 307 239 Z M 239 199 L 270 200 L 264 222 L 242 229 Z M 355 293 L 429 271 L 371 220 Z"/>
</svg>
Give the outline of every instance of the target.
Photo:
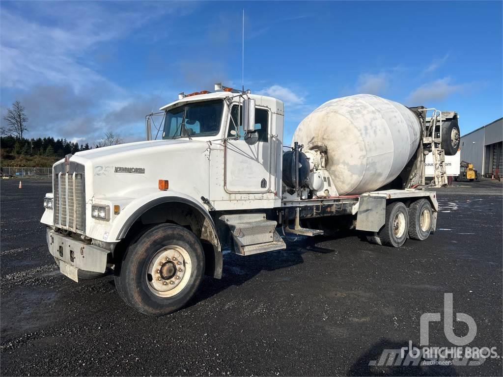
<svg viewBox="0 0 503 377">
<path fill-rule="evenodd" d="M 229 226 L 236 254 L 251 255 L 286 249 L 285 242 L 276 232 L 278 223 L 267 220 L 264 213 L 222 215 L 220 220 Z"/>
</svg>

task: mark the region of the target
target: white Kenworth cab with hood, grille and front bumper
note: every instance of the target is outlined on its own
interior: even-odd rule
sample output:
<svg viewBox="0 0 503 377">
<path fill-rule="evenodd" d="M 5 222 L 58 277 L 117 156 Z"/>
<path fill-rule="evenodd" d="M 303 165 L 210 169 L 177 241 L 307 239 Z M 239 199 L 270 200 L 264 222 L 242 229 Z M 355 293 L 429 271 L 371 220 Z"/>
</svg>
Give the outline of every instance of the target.
<svg viewBox="0 0 503 377">
<path fill-rule="evenodd" d="M 244 104 L 253 112 L 248 132 Z M 131 243 L 158 224 L 190 232 L 204 259 L 200 269 L 220 277 L 225 235 L 214 214 L 281 205 L 283 102 L 220 85 L 211 93 L 182 94 L 160 111 L 158 140 L 82 151 L 54 164 L 41 222 L 51 254 L 70 278 L 96 277 L 111 267 L 118 276 Z M 177 277 L 183 279 L 161 281 L 169 287 Z"/>
</svg>

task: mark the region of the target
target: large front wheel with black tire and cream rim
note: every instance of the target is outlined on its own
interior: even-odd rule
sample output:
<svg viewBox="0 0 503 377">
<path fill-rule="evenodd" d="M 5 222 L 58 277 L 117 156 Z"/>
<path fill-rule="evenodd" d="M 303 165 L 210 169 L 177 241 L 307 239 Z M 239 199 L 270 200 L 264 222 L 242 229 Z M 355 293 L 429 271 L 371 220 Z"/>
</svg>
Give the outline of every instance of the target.
<svg viewBox="0 0 503 377">
<path fill-rule="evenodd" d="M 160 224 L 128 248 L 115 284 L 127 304 L 143 314 L 161 316 L 179 310 L 196 293 L 204 263 L 194 233 Z"/>
</svg>

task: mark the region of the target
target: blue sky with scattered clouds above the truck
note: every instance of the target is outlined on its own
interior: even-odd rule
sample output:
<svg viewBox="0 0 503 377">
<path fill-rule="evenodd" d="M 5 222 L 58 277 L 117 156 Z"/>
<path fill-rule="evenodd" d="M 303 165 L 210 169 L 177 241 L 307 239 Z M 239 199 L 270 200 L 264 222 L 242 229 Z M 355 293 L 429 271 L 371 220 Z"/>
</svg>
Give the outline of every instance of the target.
<svg viewBox="0 0 503 377">
<path fill-rule="evenodd" d="M 285 102 L 285 143 L 310 111 L 366 92 L 455 110 L 465 134 L 503 114 L 501 2 L 0 3 L 0 106 L 28 137 L 144 138 L 180 91 L 244 84 Z"/>
</svg>

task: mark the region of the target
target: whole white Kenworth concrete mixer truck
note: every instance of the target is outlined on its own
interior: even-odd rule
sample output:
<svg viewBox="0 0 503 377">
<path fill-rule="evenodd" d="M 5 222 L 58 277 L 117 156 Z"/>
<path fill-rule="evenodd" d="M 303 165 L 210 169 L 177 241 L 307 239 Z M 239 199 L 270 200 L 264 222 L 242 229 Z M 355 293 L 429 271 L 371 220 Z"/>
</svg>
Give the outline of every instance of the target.
<svg viewBox="0 0 503 377">
<path fill-rule="evenodd" d="M 440 186 L 459 146 L 456 113 L 371 95 L 321 105 L 291 147 L 283 102 L 249 90 L 181 93 L 156 114 L 159 140 L 150 114 L 147 141 L 56 162 L 41 220 L 63 274 L 113 271 L 122 299 L 148 315 L 183 307 L 203 274 L 220 278 L 226 248 L 246 256 L 343 228 L 386 246 L 425 240 L 438 209 L 425 155 Z"/>
</svg>

